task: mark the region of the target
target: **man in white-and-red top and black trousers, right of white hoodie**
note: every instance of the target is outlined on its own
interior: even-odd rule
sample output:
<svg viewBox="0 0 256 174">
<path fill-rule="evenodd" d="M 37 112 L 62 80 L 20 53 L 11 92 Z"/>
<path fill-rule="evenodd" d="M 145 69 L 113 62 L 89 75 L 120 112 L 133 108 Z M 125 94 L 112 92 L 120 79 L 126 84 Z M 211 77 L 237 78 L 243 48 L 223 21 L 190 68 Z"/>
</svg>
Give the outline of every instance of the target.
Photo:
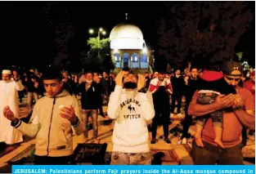
<svg viewBox="0 0 256 174">
<path fill-rule="evenodd" d="M 149 91 L 153 95 L 155 117 L 152 123 L 152 140 L 151 144 L 155 144 L 155 136 L 158 125 L 163 125 L 164 141 L 170 144 L 168 139 L 168 125 L 170 115 L 169 95 L 173 93 L 172 84 L 168 78 L 164 78 L 164 72 L 158 74 L 158 78 L 150 81 Z"/>
</svg>

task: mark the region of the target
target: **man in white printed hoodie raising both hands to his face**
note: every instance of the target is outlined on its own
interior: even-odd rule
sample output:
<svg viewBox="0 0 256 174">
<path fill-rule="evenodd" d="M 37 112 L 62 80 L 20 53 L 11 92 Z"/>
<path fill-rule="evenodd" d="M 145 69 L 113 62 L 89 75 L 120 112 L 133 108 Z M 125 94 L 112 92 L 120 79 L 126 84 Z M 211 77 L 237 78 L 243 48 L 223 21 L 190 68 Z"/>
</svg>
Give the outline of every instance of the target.
<svg viewBox="0 0 256 174">
<path fill-rule="evenodd" d="M 115 83 L 107 110 L 115 119 L 111 164 L 151 164 L 146 121 L 154 118 L 155 110 L 145 77 L 121 71 Z"/>
</svg>

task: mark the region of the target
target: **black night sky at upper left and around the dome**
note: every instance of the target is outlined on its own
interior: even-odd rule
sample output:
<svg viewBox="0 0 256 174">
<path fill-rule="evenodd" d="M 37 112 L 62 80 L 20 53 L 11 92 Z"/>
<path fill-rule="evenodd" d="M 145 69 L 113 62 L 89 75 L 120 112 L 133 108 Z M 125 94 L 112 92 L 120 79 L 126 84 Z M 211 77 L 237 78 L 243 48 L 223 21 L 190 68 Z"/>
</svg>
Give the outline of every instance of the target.
<svg viewBox="0 0 256 174">
<path fill-rule="evenodd" d="M 51 60 L 52 39 L 47 28 L 46 7 L 49 2 L 0 2 L 0 43 L 3 63 L 15 59 L 16 64 L 28 65 L 29 59 Z M 156 20 L 164 17 L 164 2 L 53 2 L 51 19 L 58 20 L 63 11 L 74 26 L 74 51 L 88 51 L 88 29 L 111 29 L 125 21 L 137 25 L 147 46 L 157 47 Z M 245 38 L 254 37 L 254 28 Z M 1 59 L 2 59 L 1 58 Z M 12 61 L 13 63 L 13 61 Z"/>
</svg>

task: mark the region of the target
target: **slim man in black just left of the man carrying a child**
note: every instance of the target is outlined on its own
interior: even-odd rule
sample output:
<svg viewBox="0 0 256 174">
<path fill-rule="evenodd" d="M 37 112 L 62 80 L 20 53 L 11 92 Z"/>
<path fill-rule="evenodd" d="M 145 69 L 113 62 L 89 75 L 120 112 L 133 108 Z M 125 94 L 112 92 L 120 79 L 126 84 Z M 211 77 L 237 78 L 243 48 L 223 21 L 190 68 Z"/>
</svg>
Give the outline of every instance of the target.
<svg viewBox="0 0 256 174">
<path fill-rule="evenodd" d="M 192 96 L 198 87 L 198 70 L 195 67 L 191 67 L 190 76 L 186 76 L 184 78 L 185 87 L 184 87 L 184 95 L 186 97 L 186 106 L 185 106 L 185 118 L 183 120 L 183 130 L 182 130 L 182 144 L 186 145 L 186 139 L 190 137 L 188 134 L 188 129 L 191 126 L 192 117 L 187 114 L 188 105 L 191 102 Z"/>
</svg>

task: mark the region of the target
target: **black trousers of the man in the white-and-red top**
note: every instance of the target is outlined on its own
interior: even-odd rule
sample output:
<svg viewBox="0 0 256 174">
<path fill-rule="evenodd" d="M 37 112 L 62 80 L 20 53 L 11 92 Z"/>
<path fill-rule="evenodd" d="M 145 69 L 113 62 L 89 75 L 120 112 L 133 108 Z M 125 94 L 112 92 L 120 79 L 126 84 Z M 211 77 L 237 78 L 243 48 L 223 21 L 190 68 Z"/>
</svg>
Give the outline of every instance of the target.
<svg viewBox="0 0 256 174">
<path fill-rule="evenodd" d="M 169 108 L 165 109 L 155 109 L 155 118 L 153 118 L 152 122 L 152 139 L 155 139 L 157 126 L 163 125 L 164 129 L 164 138 L 168 138 L 168 125 L 169 125 Z"/>
</svg>

